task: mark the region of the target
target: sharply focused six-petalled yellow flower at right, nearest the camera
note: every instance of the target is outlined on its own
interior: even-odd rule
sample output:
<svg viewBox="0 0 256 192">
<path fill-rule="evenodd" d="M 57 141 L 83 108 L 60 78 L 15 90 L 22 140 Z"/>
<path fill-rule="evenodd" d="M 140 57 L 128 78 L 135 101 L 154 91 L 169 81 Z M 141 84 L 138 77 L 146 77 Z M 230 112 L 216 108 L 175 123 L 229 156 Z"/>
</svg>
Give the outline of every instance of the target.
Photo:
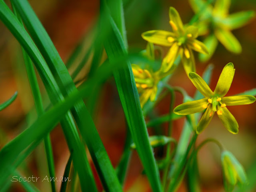
<svg viewBox="0 0 256 192">
<path fill-rule="evenodd" d="M 226 64 L 220 74 L 216 88 L 214 92 L 212 92 L 206 82 L 198 74 L 190 72 L 190 80 L 205 98 L 180 104 L 174 109 L 174 113 L 178 115 L 188 115 L 206 109 L 196 126 L 196 133 L 199 134 L 208 126 L 214 113 L 217 112 L 220 121 L 226 129 L 233 134 L 237 134 L 238 123 L 226 106 L 251 104 L 255 102 L 256 98 L 250 95 L 224 97 L 231 86 L 234 74 L 234 65 L 232 63 Z"/>
</svg>

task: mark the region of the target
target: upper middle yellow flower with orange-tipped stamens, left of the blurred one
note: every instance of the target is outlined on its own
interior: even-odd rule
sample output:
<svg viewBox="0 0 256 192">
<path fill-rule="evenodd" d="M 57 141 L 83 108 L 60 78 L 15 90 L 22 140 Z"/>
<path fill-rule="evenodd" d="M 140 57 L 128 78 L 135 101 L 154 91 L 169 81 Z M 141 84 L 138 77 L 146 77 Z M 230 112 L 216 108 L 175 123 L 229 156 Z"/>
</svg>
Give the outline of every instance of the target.
<svg viewBox="0 0 256 192">
<path fill-rule="evenodd" d="M 164 30 L 151 30 L 142 33 L 142 38 L 148 42 L 162 46 L 170 46 L 164 62 L 161 66 L 162 72 L 168 72 L 178 55 L 180 54 L 184 70 L 188 75 L 189 72 L 196 72 L 195 60 L 192 50 L 208 54 L 206 46 L 196 40 L 198 36 L 198 28 L 196 26 L 188 26 L 184 28 L 180 19 L 180 15 L 173 7 L 169 9 L 170 25 L 173 32 Z"/>
</svg>

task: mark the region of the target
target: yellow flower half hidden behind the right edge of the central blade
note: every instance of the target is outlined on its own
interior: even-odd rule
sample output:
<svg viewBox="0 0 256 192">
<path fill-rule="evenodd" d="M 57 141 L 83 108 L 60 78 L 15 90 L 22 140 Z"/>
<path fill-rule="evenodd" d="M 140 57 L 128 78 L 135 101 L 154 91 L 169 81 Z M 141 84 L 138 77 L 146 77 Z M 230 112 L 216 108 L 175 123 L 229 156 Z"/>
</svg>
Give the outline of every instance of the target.
<svg viewBox="0 0 256 192">
<path fill-rule="evenodd" d="M 140 106 L 143 108 L 148 99 L 154 101 L 156 98 L 157 84 L 159 82 L 158 72 L 150 72 L 136 64 L 132 64 L 132 72 L 140 94 Z"/>
</svg>

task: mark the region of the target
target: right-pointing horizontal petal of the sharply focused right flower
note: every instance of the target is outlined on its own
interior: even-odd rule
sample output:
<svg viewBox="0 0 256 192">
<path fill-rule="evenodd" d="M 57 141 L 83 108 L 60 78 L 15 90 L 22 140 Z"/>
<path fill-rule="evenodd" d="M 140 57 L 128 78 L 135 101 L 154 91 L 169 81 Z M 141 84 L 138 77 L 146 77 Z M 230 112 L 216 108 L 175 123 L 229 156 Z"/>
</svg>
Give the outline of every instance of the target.
<svg viewBox="0 0 256 192">
<path fill-rule="evenodd" d="M 230 97 L 223 97 L 221 102 L 226 104 L 226 106 L 233 106 L 233 105 L 247 105 L 255 102 L 256 98 L 251 95 L 239 95 L 239 96 L 230 96 Z"/>
</svg>

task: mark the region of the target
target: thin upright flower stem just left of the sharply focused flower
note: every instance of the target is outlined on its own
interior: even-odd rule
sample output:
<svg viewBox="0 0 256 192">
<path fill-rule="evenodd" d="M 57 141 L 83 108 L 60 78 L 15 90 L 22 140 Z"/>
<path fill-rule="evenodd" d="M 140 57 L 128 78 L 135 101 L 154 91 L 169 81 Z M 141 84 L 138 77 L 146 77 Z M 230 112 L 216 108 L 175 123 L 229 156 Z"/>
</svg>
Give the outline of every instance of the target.
<svg viewBox="0 0 256 192">
<path fill-rule="evenodd" d="M 173 116 L 173 108 L 174 108 L 174 101 L 175 101 L 175 93 L 174 93 L 174 89 L 169 86 L 168 84 L 166 84 L 166 88 L 170 91 L 171 94 L 171 102 L 170 102 L 170 112 L 169 112 L 169 122 L 168 122 L 168 133 L 167 136 L 170 137 L 172 135 L 172 116 Z M 171 163 L 171 157 L 170 157 L 170 150 L 171 150 L 171 145 L 172 143 L 170 142 L 167 145 L 166 148 L 166 159 L 167 159 L 167 165 L 164 168 L 164 173 L 163 173 L 163 178 L 162 178 L 162 188 L 164 189 L 166 186 L 166 180 L 167 180 L 167 176 L 168 176 L 168 169 L 170 167 L 170 163 Z"/>
</svg>

